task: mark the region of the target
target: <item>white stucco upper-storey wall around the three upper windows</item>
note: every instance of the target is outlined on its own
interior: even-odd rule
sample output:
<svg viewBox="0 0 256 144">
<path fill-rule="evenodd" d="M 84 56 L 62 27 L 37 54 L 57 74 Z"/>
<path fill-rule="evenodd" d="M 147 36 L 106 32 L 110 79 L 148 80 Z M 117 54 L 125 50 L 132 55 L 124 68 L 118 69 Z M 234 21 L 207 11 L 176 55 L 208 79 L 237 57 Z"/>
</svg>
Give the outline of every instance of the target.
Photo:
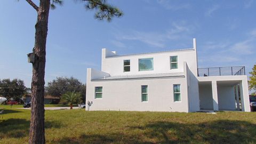
<svg viewBox="0 0 256 144">
<path fill-rule="evenodd" d="M 112 57 L 106 57 L 111 55 Z M 101 71 L 109 73 L 111 76 L 119 75 L 141 75 L 141 74 L 162 74 L 162 73 L 181 73 L 183 72 L 183 62 L 186 61 L 189 69 L 197 75 L 196 51 L 194 49 L 186 51 L 170 51 L 149 54 L 134 54 L 114 56 L 107 49 L 102 49 Z M 170 57 L 178 56 L 178 69 L 170 68 Z M 139 59 L 153 58 L 154 70 L 139 71 Z M 124 72 L 124 60 L 130 60 L 131 71 Z"/>
</svg>

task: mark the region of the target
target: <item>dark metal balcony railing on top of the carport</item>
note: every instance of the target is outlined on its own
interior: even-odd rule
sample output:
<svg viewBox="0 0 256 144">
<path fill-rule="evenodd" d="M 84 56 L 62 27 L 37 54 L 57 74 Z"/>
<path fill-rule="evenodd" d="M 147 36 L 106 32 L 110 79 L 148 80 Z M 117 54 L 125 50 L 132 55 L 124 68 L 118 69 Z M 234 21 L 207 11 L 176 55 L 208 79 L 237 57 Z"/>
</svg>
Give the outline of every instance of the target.
<svg viewBox="0 0 256 144">
<path fill-rule="evenodd" d="M 198 68 L 198 76 L 235 76 L 245 75 L 245 67 Z"/>
</svg>

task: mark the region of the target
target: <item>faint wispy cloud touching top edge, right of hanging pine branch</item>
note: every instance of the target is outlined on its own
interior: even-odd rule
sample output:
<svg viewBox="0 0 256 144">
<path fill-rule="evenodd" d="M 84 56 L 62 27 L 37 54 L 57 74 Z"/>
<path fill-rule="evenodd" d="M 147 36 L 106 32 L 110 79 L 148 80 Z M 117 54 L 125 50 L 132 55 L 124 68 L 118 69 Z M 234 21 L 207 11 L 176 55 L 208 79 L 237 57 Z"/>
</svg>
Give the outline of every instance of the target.
<svg viewBox="0 0 256 144">
<path fill-rule="evenodd" d="M 184 10 L 184 9 L 189 9 L 191 6 L 190 4 L 171 4 L 170 1 L 167 0 L 157 0 L 157 3 L 163 7 L 165 7 L 165 9 L 167 10 L 173 10 L 173 11 L 177 11 L 177 10 Z"/>
</svg>

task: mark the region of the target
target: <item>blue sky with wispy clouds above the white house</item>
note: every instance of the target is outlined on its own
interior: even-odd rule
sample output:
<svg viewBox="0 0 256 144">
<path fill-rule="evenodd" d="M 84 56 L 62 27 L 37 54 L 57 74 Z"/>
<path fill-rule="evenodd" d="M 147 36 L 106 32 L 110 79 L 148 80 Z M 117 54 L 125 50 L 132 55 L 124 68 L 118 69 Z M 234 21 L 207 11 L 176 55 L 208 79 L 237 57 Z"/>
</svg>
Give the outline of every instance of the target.
<svg viewBox="0 0 256 144">
<path fill-rule="evenodd" d="M 37 3 L 37 0 L 34 0 Z M 57 76 L 86 82 L 86 68 L 101 68 L 101 49 L 118 54 L 193 47 L 198 66 L 256 64 L 256 1 L 108 1 L 123 12 L 111 22 L 95 20 L 83 3 L 65 0 L 50 11 L 46 45 L 46 83 Z M 20 78 L 30 87 L 35 10 L 20 0 L 0 2 L 0 79 Z"/>
</svg>

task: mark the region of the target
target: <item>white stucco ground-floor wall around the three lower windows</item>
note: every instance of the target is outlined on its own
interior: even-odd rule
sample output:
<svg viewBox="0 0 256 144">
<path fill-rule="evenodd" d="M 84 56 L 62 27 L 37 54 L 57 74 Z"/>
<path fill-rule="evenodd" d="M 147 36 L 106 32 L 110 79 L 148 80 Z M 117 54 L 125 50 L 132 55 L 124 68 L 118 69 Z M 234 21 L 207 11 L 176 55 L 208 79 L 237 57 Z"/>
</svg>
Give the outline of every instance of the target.
<svg viewBox="0 0 256 144">
<path fill-rule="evenodd" d="M 174 102 L 173 84 L 181 85 L 181 102 Z M 141 102 L 141 85 L 148 85 L 148 102 Z M 102 99 L 94 98 L 95 86 L 103 87 Z M 90 110 L 188 112 L 186 78 L 87 81 L 86 88 L 86 102 L 93 102 Z"/>
</svg>

